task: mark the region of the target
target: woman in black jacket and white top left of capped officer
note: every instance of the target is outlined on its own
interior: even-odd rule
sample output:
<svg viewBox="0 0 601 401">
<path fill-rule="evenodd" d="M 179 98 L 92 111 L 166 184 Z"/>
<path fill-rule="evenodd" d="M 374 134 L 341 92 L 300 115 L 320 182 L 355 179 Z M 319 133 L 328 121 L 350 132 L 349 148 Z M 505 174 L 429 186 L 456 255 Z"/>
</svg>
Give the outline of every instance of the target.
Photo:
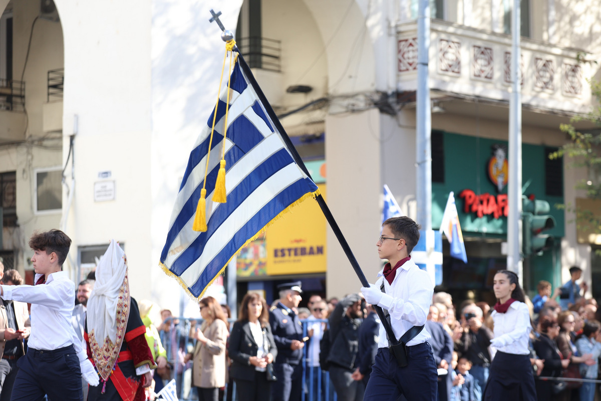
<svg viewBox="0 0 601 401">
<path fill-rule="evenodd" d="M 272 362 L 278 349 L 269 326 L 267 303 L 257 293 L 247 293 L 242 299 L 228 352 L 238 401 L 270 401 L 271 381 L 275 379 Z"/>
</svg>

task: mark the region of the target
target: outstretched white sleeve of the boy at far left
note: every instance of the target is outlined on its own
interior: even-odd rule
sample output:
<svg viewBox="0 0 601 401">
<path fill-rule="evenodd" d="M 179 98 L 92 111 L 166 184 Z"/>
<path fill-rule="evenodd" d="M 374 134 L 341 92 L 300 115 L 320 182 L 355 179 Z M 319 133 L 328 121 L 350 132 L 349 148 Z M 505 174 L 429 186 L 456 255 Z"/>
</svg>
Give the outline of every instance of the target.
<svg viewBox="0 0 601 401">
<path fill-rule="evenodd" d="M 2 299 L 41 304 L 48 308 L 63 307 L 66 289 L 61 281 L 51 281 L 39 286 L 1 286 Z"/>
</svg>

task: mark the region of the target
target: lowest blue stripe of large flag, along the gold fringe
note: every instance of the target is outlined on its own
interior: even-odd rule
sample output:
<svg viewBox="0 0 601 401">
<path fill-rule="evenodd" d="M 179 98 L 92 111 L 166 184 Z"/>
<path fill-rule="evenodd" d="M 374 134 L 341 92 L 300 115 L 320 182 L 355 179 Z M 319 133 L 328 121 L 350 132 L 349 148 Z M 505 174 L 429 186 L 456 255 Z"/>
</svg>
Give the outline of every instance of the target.
<svg viewBox="0 0 601 401">
<path fill-rule="evenodd" d="M 314 184 L 313 184 L 314 185 Z M 299 200 L 302 195 L 310 191 L 306 179 L 299 179 L 294 182 L 278 196 L 267 203 L 252 219 L 250 219 L 240 230 L 234 234 L 232 239 L 224 246 L 213 260 L 206 266 L 200 278 L 188 290 L 194 296 L 200 296 L 204 288 L 219 274 L 219 271 L 225 266 L 230 257 L 244 245 L 244 243 L 261 228 L 265 227 L 275 216 L 286 209 L 288 206 Z M 173 271 L 173 270 L 171 270 Z"/>
</svg>

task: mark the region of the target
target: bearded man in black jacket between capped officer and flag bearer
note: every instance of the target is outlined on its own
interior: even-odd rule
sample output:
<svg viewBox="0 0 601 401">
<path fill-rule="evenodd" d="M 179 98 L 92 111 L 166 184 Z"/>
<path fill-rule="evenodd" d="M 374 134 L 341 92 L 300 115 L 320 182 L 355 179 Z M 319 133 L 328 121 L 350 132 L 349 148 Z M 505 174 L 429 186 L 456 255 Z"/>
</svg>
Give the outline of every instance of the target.
<svg viewBox="0 0 601 401">
<path fill-rule="evenodd" d="M 363 319 L 363 299 L 359 294 L 350 294 L 341 299 L 329 317 L 330 329 L 330 379 L 338 400 L 361 401 L 365 391 L 362 381 L 353 378 L 358 367 L 359 326 Z"/>
</svg>

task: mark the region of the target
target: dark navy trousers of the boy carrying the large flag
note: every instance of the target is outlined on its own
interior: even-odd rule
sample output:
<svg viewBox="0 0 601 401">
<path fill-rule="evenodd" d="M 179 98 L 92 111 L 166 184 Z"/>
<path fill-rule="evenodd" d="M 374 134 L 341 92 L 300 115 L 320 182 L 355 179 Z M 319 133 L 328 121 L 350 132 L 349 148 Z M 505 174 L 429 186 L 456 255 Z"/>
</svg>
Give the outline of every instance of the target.
<svg viewBox="0 0 601 401">
<path fill-rule="evenodd" d="M 364 401 L 396 401 L 403 394 L 408 401 L 436 401 L 438 372 L 428 343 L 407 347 L 406 367 L 398 367 L 388 348 L 379 348 L 365 389 Z"/>
</svg>

